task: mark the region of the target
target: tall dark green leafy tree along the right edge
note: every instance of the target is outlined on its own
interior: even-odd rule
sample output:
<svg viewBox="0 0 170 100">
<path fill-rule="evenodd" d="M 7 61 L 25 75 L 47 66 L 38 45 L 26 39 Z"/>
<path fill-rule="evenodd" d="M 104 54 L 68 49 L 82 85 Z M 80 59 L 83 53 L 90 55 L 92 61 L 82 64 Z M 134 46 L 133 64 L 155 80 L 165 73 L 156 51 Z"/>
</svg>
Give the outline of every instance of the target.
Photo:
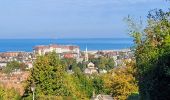
<svg viewBox="0 0 170 100">
<path fill-rule="evenodd" d="M 153 10 L 148 25 L 139 32 L 132 28 L 142 100 L 169 100 L 170 92 L 170 12 Z M 161 93 L 160 93 L 161 90 Z"/>
</svg>

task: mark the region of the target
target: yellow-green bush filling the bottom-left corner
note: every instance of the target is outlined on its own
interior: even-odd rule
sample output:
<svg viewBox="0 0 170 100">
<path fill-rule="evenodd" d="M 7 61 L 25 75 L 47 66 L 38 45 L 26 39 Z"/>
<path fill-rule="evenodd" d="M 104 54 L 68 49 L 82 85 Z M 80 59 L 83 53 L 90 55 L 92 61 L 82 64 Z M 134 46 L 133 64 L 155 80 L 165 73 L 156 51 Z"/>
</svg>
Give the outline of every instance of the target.
<svg viewBox="0 0 170 100">
<path fill-rule="evenodd" d="M 21 96 L 14 89 L 0 87 L 0 100 L 19 100 Z"/>
</svg>

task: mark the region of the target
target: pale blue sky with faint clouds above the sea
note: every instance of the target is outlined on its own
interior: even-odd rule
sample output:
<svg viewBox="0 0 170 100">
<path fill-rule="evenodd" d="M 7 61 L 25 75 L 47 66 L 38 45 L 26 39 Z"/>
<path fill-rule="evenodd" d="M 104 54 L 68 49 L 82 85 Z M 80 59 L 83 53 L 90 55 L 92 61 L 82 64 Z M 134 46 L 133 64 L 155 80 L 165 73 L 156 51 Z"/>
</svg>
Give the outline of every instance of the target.
<svg viewBox="0 0 170 100">
<path fill-rule="evenodd" d="M 165 0 L 0 0 L 0 38 L 126 38 L 128 15 L 146 20 Z"/>
</svg>

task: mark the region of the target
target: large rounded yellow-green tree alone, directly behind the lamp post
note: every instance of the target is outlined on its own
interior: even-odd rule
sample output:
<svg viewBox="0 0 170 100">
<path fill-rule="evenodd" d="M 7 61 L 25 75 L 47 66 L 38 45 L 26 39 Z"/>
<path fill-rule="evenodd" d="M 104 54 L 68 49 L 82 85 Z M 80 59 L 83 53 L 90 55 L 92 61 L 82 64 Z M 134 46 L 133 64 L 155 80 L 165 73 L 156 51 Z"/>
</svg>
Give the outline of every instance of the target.
<svg viewBox="0 0 170 100">
<path fill-rule="evenodd" d="M 29 87 L 33 82 L 36 84 L 37 97 L 69 96 L 70 94 L 65 84 L 65 68 L 55 52 L 39 56 L 35 61 L 28 80 L 28 93 L 31 93 Z"/>
</svg>

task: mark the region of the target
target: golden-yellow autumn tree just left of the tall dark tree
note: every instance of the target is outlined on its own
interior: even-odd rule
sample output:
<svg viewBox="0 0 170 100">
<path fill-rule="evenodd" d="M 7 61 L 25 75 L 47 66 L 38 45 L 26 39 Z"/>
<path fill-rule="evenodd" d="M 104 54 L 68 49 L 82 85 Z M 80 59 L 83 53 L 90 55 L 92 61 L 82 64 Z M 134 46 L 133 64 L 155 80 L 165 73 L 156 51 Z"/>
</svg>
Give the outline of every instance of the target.
<svg viewBox="0 0 170 100">
<path fill-rule="evenodd" d="M 107 94 L 112 94 L 115 100 L 126 100 L 129 95 L 138 92 L 133 64 L 116 68 L 103 76 L 104 88 Z"/>
</svg>

